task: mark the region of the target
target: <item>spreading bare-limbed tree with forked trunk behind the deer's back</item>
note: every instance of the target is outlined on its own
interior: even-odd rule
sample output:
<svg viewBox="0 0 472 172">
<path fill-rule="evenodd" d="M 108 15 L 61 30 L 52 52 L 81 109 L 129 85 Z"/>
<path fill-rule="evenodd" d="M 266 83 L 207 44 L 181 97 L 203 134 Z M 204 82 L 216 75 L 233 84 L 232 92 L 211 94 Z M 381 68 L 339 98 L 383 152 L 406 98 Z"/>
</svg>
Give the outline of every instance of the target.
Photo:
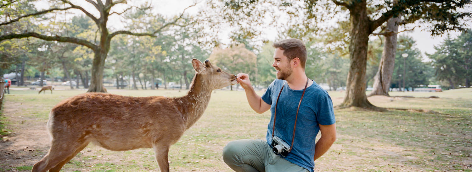
<svg viewBox="0 0 472 172">
<path fill-rule="evenodd" d="M 97 39 L 98 40 L 87 40 L 84 38 L 79 38 L 79 37 L 71 37 L 68 34 L 67 30 L 60 30 L 60 32 L 46 32 L 42 31 L 41 32 L 30 32 L 29 30 L 25 31 L 17 31 L 14 33 L 7 33 L 0 35 L 0 41 L 4 40 L 9 40 L 9 39 L 19 39 L 19 38 L 27 38 L 27 37 L 36 37 L 42 40 L 46 41 L 59 41 L 59 42 L 70 42 L 70 43 L 75 43 L 78 45 L 83 45 L 89 49 L 93 50 L 94 57 L 93 57 L 93 66 L 92 66 L 92 77 L 91 77 L 91 83 L 90 87 L 88 89 L 88 92 L 106 92 L 105 88 L 103 87 L 103 70 L 104 70 L 104 65 L 105 65 L 105 59 L 108 55 L 108 52 L 110 50 L 110 41 L 117 35 L 119 34 L 128 34 L 128 35 L 135 35 L 135 36 L 153 36 L 155 37 L 157 33 L 160 33 L 164 28 L 168 27 L 169 25 L 175 25 L 176 22 L 183 18 L 184 12 L 180 16 L 174 17 L 172 21 L 162 24 L 162 25 L 152 25 L 150 26 L 150 30 L 147 32 L 141 32 L 141 33 L 135 33 L 131 31 L 126 31 L 126 30 L 118 30 L 115 32 L 109 32 L 111 29 L 108 26 L 108 18 L 111 15 L 121 15 L 123 13 L 126 13 L 126 11 L 132 9 L 132 8 L 138 8 L 138 9 L 143 9 L 149 10 L 151 7 L 143 7 L 139 8 L 136 6 L 129 6 L 129 8 L 126 8 L 123 11 L 114 11 L 114 7 L 116 7 L 117 4 L 126 4 L 126 0 L 106 0 L 105 3 L 103 3 L 101 0 L 98 0 L 97 2 L 92 1 L 92 0 L 87 0 L 88 3 L 92 4 L 93 7 L 95 8 L 94 10 L 97 10 L 99 13 L 99 16 L 94 16 L 92 12 L 89 10 L 76 5 L 68 0 L 60 0 L 60 3 L 56 3 L 54 7 L 42 11 L 37 11 L 37 12 L 32 12 L 28 13 L 25 15 L 13 15 L 9 14 L 10 19 L 9 21 L 0 23 L 0 26 L 2 25 L 12 25 L 15 24 L 17 21 L 21 19 L 25 19 L 30 16 L 40 16 L 43 14 L 47 14 L 53 11 L 70 11 L 73 9 L 78 9 L 81 12 L 83 12 L 86 16 L 91 18 L 94 22 L 95 25 L 97 25 Z M 64 8 L 60 8 L 64 7 Z M 113 8 L 113 9 L 112 9 Z M 186 8 L 185 8 L 186 9 Z M 149 15 L 152 18 L 152 15 Z"/>
</svg>

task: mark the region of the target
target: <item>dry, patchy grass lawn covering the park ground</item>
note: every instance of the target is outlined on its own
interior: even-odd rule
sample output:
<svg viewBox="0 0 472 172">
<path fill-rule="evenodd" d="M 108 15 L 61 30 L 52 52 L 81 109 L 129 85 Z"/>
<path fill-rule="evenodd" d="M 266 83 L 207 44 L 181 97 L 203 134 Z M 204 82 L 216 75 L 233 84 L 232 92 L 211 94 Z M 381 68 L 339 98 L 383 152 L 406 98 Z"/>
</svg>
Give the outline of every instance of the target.
<svg viewBox="0 0 472 172">
<path fill-rule="evenodd" d="M 49 149 L 45 124 L 51 108 L 61 100 L 85 90 L 55 90 L 38 95 L 36 91 L 11 90 L 0 118 L 15 137 L 28 135 L 25 128 L 38 132 L 35 143 L 11 144 L 18 152 L 29 145 L 36 155 L 30 161 L 0 162 L 0 171 L 28 171 Z M 126 96 L 182 96 L 177 90 L 109 90 Z M 340 104 L 345 92 L 329 91 L 333 104 Z M 262 94 L 262 92 L 258 92 Z M 315 171 L 471 171 L 472 170 L 472 89 L 438 93 L 391 92 L 391 98 L 373 96 L 372 104 L 413 110 L 367 111 L 358 108 L 335 110 L 337 140 L 315 162 Z M 439 98 L 425 98 L 429 96 Z M 15 109 L 15 110 L 13 110 Z M 423 112 L 420 110 L 423 109 Z M 21 117 L 18 117 L 21 116 Z M 26 120 L 28 119 L 28 120 Z M 221 152 L 231 140 L 264 139 L 270 112 L 257 114 L 247 104 L 244 91 L 216 90 L 205 114 L 170 148 L 171 171 L 231 171 Z M 28 137 L 28 138 L 29 138 Z M 320 134 L 318 135 L 318 138 Z M 18 140 L 18 139 L 17 139 Z M 42 140 L 42 141 L 41 141 Z M 5 142 L 3 140 L 3 142 Z M 16 145 L 16 146 L 15 146 Z M 28 150 L 26 150 L 28 151 Z M 114 152 L 89 145 L 63 171 L 159 171 L 152 149 Z"/>
</svg>

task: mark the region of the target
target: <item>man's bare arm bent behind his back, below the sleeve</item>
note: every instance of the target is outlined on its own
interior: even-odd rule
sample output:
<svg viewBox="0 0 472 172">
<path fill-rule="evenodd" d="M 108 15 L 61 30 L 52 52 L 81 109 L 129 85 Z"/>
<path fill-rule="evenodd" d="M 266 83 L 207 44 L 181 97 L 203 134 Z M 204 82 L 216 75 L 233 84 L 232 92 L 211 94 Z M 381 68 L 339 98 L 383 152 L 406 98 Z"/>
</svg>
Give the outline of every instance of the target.
<svg viewBox="0 0 472 172">
<path fill-rule="evenodd" d="M 320 125 L 320 124 L 319 124 Z M 316 142 L 315 161 L 322 156 L 336 140 L 336 123 L 320 125 L 321 138 Z"/>
</svg>

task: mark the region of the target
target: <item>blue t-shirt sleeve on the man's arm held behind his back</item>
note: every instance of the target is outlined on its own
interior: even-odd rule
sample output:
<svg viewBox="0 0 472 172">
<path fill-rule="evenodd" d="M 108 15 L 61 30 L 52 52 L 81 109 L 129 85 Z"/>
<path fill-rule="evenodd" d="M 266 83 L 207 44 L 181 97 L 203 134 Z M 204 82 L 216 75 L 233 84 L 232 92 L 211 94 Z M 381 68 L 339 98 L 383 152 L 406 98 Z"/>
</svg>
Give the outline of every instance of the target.
<svg viewBox="0 0 472 172">
<path fill-rule="evenodd" d="M 336 123 L 334 118 L 333 102 L 327 93 L 321 94 L 318 101 L 317 121 L 321 125 L 331 125 Z"/>
</svg>

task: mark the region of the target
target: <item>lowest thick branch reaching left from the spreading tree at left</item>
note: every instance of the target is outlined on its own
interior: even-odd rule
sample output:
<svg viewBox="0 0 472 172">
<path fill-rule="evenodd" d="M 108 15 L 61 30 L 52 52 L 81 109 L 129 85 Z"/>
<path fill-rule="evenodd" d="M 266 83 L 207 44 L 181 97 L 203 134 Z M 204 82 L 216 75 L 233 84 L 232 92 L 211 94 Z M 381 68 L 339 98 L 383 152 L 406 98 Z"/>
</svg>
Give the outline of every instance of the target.
<svg viewBox="0 0 472 172">
<path fill-rule="evenodd" d="M 78 39 L 78 38 L 74 38 L 74 37 L 62 37 L 62 36 L 59 36 L 59 35 L 46 36 L 46 35 L 42 35 L 42 34 L 34 33 L 34 32 L 19 33 L 19 34 L 12 33 L 12 34 L 1 35 L 0 36 L 0 42 L 3 41 L 3 40 L 20 39 L 20 38 L 27 38 L 27 37 L 35 37 L 35 38 L 39 38 L 39 39 L 42 39 L 42 40 L 45 40 L 45 41 L 70 42 L 70 43 L 83 45 L 83 46 L 88 47 L 88 48 L 93 49 L 93 50 L 98 48 L 92 42 L 89 42 L 89 41 L 86 41 L 86 40 L 83 40 L 83 39 Z"/>
</svg>

